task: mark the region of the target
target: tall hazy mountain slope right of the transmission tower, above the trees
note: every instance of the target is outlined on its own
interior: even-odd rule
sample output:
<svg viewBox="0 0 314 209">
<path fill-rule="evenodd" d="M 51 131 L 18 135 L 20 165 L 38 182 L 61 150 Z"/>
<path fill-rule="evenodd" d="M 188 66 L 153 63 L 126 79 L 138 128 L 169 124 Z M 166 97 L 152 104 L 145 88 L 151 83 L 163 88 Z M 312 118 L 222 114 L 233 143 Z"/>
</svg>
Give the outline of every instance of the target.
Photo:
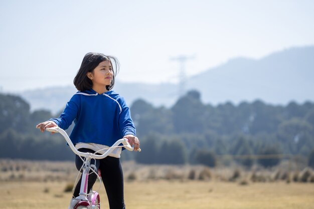
<svg viewBox="0 0 314 209">
<path fill-rule="evenodd" d="M 237 58 L 194 76 L 188 88 L 205 102 L 263 100 L 272 104 L 314 100 L 314 47 L 291 48 L 259 60 Z"/>
</svg>

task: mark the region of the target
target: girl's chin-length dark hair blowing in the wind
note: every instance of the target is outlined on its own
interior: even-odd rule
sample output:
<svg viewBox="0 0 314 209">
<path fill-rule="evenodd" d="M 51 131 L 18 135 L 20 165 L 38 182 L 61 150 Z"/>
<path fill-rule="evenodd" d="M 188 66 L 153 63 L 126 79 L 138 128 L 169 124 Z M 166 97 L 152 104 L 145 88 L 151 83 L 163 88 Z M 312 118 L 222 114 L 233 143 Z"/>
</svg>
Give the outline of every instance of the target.
<svg viewBox="0 0 314 209">
<path fill-rule="evenodd" d="M 113 77 L 110 85 L 106 86 L 106 89 L 109 91 L 114 86 L 114 78 L 119 71 L 119 61 L 113 56 L 106 56 L 101 53 L 87 53 L 82 61 L 80 69 L 77 71 L 77 74 L 74 78 L 74 86 L 79 91 L 84 91 L 91 89 L 93 86 L 92 81 L 87 77 L 88 72 L 93 72 L 93 70 L 103 61 L 110 61 L 110 64 L 113 69 Z M 113 61 L 113 62 L 112 62 Z M 114 63 L 114 65 L 112 65 Z"/>
</svg>

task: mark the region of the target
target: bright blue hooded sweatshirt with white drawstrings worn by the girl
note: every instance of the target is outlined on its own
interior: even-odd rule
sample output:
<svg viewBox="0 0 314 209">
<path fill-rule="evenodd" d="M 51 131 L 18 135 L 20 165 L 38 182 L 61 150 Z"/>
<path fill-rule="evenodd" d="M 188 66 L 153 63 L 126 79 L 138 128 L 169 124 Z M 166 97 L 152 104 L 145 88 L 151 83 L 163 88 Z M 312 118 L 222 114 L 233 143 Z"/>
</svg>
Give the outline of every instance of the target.
<svg viewBox="0 0 314 209">
<path fill-rule="evenodd" d="M 131 114 L 124 98 L 114 91 L 98 94 L 93 89 L 79 91 L 70 99 L 59 118 L 51 118 L 70 134 L 73 144 L 97 143 L 111 146 L 127 134 L 136 136 Z"/>
</svg>

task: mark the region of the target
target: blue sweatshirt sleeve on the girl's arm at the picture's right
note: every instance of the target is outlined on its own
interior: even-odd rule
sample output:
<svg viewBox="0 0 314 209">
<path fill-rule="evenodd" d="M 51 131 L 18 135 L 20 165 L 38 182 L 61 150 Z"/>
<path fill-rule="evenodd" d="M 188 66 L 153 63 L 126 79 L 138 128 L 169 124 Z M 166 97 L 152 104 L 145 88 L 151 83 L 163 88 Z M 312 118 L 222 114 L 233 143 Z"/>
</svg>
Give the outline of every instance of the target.
<svg viewBox="0 0 314 209">
<path fill-rule="evenodd" d="M 122 136 L 132 134 L 136 136 L 136 129 L 131 118 L 131 112 L 123 97 L 120 98 L 121 113 L 119 115 L 119 127 Z"/>
</svg>

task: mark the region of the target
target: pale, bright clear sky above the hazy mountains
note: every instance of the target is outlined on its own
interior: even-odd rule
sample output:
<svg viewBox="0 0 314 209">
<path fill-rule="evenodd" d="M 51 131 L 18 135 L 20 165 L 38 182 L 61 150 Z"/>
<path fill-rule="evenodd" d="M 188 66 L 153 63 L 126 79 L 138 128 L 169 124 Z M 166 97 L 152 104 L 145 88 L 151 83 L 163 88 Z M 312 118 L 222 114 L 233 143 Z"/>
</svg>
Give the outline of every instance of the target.
<svg viewBox="0 0 314 209">
<path fill-rule="evenodd" d="M 314 45 L 311 0 L 0 1 L 0 91 L 73 85 L 84 55 L 121 82 L 178 82 L 230 59 Z"/>
</svg>

